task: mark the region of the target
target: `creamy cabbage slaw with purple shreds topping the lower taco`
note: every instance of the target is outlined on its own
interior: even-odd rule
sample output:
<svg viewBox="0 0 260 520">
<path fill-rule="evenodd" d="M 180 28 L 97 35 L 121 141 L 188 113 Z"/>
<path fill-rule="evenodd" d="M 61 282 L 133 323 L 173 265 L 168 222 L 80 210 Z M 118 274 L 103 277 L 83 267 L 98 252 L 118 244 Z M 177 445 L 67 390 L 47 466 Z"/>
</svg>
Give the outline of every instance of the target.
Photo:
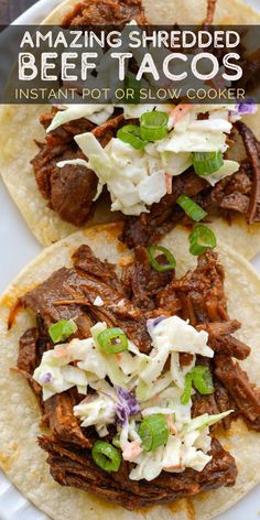
<svg viewBox="0 0 260 520">
<path fill-rule="evenodd" d="M 207 333 L 198 333 L 177 316 L 160 316 L 148 321 L 153 345 L 149 355 L 129 340 L 128 350 L 113 356 L 98 344 L 98 335 L 106 328 L 106 323 L 99 322 L 91 327 L 91 337 L 74 338 L 44 353 L 33 375 L 43 388 L 43 399 L 72 387 L 86 394 L 74 407 L 75 416 L 82 427 L 94 426 L 99 437 L 109 434 L 111 424 L 116 427 L 122 458 L 133 464 L 133 480 L 150 481 L 162 470 L 178 473 L 186 467 L 202 472 L 210 461 L 209 426 L 231 413 L 192 419 L 192 400 L 181 403 L 185 373 L 194 366 L 196 354 L 214 354 L 207 346 Z M 193 354 L 188 366 L 180 366 L 182 351 Z M 169 358 L 170 369 L 165 370 Z M 91 392 L 87 394 L 88 388 Z M 165 445 L 148 453 L 142 448 L 139 424 L 156 413 L 164 415 L 170 435 Z"/>
</svg>

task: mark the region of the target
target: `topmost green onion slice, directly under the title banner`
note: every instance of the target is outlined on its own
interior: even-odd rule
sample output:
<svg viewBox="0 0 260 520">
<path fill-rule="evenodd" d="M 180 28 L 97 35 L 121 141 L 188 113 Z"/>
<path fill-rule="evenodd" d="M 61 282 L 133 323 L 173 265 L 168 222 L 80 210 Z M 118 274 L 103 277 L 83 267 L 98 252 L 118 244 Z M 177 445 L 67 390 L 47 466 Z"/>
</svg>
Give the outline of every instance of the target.
<svg viewBox="0 0 260 520">
<path fill-rule="evenodd" d="M 145 112 L 141 116 L 141 138 L 145 141 L 160 141 L 167 136 L 169 115 L 166 112 Z"/>
</svg>

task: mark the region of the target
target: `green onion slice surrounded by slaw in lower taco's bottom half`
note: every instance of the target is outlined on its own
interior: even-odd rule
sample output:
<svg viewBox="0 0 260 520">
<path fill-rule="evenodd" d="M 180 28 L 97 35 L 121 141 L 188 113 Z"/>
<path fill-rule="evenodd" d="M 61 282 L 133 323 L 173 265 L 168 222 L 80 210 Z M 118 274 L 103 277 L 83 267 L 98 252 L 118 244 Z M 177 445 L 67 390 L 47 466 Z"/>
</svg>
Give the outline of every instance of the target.
<svg viewBox="0 0 260 520">
<path fill-rule="evenodd" d="M 162 413 L 155 413 L 145 418 L 139 426 L 139 436 L 145 452 L 153 452 L 159 446 L 166 444 L 169 427 Z"/>
</svg>

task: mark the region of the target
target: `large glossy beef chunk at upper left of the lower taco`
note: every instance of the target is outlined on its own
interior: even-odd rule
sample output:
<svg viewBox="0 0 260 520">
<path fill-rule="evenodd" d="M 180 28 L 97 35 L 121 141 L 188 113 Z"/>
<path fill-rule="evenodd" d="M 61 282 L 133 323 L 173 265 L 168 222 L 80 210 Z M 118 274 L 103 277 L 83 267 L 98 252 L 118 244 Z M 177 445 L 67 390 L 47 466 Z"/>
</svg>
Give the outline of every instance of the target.
<svg viewBox="0 0 260 520">
<path fill-rule="evenodd" d="M 111 268 L 100 262 L 87 246 L 80 248 L 74 258 L 75 268 L 56 271 L 39 288 L 25 294 L 22 304 L 32 308 L 43 319 L 45 327 L 59 319 L 77 318 L 86 307 L 90 318 L 105 321 L 109 326 L 121 326 L 141 351 L 149 351 L 151 342 L 145 316 L 118 290 L 116 273 L 111 275 Z M 94 263 L 96 267 L 91 272 Z M 95 305 L 97 296 L 102 301 L 101 306 Z"/>
</svg>

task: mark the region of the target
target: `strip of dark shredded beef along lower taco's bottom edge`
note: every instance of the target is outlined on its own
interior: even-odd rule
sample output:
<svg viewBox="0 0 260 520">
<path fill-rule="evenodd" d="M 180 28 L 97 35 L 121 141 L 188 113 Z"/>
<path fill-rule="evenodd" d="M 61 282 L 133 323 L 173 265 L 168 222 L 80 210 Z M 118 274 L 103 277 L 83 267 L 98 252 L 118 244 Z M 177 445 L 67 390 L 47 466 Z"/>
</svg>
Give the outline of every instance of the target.
<svg viewBox="0 0 260 520">
<path fill-rule="evenodd" d="M 129 479 L 129 465 L 122 463 L 118 474 L 107 474 L 93 462 L 88 451 L 75 449 L 48 437 L 39 440 L 48 453 L 47 462 L 55 480 L 63 486 L 74 486 L 133 510 L 152 503 L 165 503 L 181 497 L 196 495 L 219 486 L 231 486 L 237 476 L 234 457 L 213 440 L 213 459 L 203 472 L 186 469 L 180 474 L 164 473 L 152 480 Z"/>
</svg>

